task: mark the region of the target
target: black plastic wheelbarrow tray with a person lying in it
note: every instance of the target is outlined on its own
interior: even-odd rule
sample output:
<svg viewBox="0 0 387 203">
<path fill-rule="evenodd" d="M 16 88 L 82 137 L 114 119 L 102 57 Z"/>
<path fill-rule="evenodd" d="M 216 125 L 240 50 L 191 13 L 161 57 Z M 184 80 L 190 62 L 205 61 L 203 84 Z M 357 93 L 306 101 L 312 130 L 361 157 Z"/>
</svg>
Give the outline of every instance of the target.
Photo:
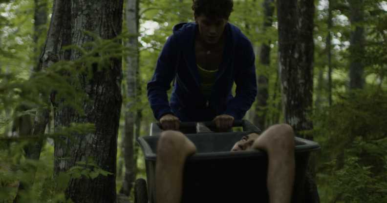
<svg viewBox="0 0 387 203">
<path fill-rule="evenodd" d="M 205 124 L 213 125 L 211 122 Z M 243 132 L 193 133 L 195 126 L 196 123 L 189 122 L 180 127 L 197 148 L 196 154 L 189 157 L 184 166 L 182 203 L 268 203 L 267 154 L 260 150 L 230 151 L 244 135 L 259 129 L 246 120 L 234 122 L 234 126 L 243 127 Z M 156 146 L 160 132 L 159 125 L 152 123 L 152 136 L 137 139 L 144 153 L 148 182 L 148 187 L 141 182 L 135 185 L 138 194 L 145 194 L 145 198 L 137 199 L 138 203 L 147 203 L 144 199 L 148 197 L 149 203 L 156 203 Z M 309 154 L 319 149 L 316 142 L 295 138 L 296 174 L 292 203 L 302 201 Z M 148 190 L 148 196 L 144 190 Z"/>
</svg>

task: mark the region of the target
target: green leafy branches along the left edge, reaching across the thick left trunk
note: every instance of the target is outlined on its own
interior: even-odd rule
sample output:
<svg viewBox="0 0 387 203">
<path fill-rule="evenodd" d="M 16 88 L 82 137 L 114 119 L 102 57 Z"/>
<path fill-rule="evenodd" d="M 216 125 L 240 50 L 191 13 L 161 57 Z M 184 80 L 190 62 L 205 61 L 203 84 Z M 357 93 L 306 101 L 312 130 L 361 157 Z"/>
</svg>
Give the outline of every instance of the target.
<svg viewBox="0 0 387 203">
<path fill-rule="evenodd" d="M 33 1 L 23 1 L 23 3 L 33 4 Z M 21 5 L 1 4 L 0 13 L 3 12 L 1 9 L 7 10 L 8 7 L 20 9 Z M 16 11 L 12 9 L 7 10 L 11 15 L 6 18 L 9 20 L 7 23 L 11 23 L 13 18 L 20 20 L 13 16 L 13 12 Z M 9 30 L 13 30 L 13 24 L 6 26 L 10 27 Z M 1 43 L 0 47 L 1 53 L 6 53 L 0 55 L 0 68 L 4 67 L 3 62 L 8 67 L 6 71 L 0 69 L 0 202 L 12 202 L 20 183 L 28 185 L 18 194 L 20 202 L 71 202 L 71 200 L 66 200 L 64 195 L 71 179 L 95 179 L 100 175 L 108 176 L 111 173 L 103 170 L 103 166 L 97 165 L 92 159 L 87 159 L 86 162 L 77 162 L 68 171 L 54 176 L 53 141 L 63 142 L 63 138 L 69 138 L 71 141 L 73 136 L 93 133 L 94 124 L 71 123 L 69 126 L 56 126 L 54 131 L 51 126 L 44 135 L 35 137 L 11 136 L 15 134 L 9 132 L 11 124 L 15 124 L 15 120 L 25 115 L 34 119 L 37 111 L 41 109 L 53 110 L 51 102 L 60 104 L 56 108 L 69 106 L 83 116 L 84 102 L 90 102 L 90 98 L 83 91 L 84 83 L 76 79 L 82 76 L 85 80 L 91 80 L 95 73 L 102 72 L 104 68 L 110 66 L 111 59 L 120 59 L 123 54 L 127 54 L 130 48 L 123 47 L 121 41 L 128 36 L 122 34 L 115 39 L 104 40 L 93 33 L 85 32 L 94 41 L 80 47 L 65 47 L 66 50 L 71 49 L 78 52 L 81 56 L 78 60 L 59 61 L 44 68 L 43 71 L 30 73 L 31 66 L 36 65 L 33 62 L 34 56 L 31 50 L 26 48 L 33 43 L 31 38 L 26 37 L 25 39 L 30 41 L 19 44 L 21 48 L 17 48 L 14 46 L 17 40 L 10 38 L 8 28 L 0 28 L 0 40 L 1 42 L 6 41 L 6 43 Z M 22 28 L 30 28 L 29 32 L 32 32 L 31 27 L 23 26 Z M 17 49 L 12 51 L 11 48 L 15 47 Z M 49 101 L 49 95 L 54 92 L 56 92 L 55 100 Z M 16 110 L 21 105 L 27 106 L 27 109 Z M 43 142 L 40 160 L 26 159 L 24 148 L 37 142 Z"/>
</svg>

